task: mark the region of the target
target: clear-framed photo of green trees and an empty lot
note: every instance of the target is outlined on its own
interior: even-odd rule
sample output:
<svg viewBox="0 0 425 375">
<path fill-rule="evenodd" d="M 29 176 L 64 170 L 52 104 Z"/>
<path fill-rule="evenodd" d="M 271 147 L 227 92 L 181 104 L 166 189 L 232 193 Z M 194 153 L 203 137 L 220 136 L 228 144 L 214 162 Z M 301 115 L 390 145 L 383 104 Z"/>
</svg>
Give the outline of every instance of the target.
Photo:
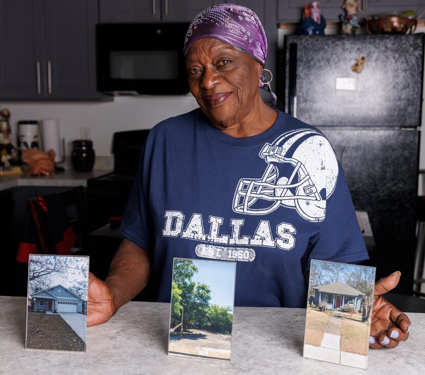
<svg viewBox="0 0 425 375">
<path fill-rule="evenodd" d="M 174 259 L 168 354 L 230 360 L 236 263 Z"/>
</svg>

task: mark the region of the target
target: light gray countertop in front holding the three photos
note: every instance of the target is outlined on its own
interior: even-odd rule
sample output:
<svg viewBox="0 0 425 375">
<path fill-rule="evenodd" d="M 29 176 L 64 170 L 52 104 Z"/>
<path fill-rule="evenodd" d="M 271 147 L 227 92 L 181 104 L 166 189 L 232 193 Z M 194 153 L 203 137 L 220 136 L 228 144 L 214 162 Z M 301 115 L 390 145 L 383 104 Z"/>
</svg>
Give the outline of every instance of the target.
<svg viewBox="0 0 425 375">
<path fill-rule="evenodd" d="M 302 358 L 305 309 L 235 308 L 230 362 L 169 357 L 169 304 L 129 302 L 104 324 L 89 327 L 87 353 L 25 349 L 26 298 L 0 297 L 0 373 L 263 374 L 423 373 L 425 314 L 410 313 L 411 338 L 369 351 L 360 370 Z"/>
</svg>

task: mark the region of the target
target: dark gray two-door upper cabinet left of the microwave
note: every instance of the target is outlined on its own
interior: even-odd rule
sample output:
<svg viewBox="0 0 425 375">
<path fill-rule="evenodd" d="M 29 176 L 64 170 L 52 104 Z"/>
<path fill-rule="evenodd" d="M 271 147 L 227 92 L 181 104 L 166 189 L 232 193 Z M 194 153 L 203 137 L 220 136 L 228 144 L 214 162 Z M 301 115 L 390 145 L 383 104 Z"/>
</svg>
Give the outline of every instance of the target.
<svg viewBox="0 0 425 375">
<path fill-rule="evenodd" d="M 0 99 L 98 100 L 96 0 L 0 0 Z"/>
</svg>

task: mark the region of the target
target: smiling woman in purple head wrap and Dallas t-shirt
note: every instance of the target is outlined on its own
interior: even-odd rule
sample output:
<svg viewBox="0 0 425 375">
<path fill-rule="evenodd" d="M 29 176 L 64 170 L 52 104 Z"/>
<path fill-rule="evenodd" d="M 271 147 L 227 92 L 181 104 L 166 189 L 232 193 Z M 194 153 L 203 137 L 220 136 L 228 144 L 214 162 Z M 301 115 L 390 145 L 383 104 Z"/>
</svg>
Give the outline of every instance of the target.
<svg viewBox="0 0 425 375">
<path fill-rule="evenodd" d="M 89 325 L 108 320 L 148 279 L 168 302 L 174 257 L 237 261 L 235 305 L 275 307 L 305 306 L 311 259 L 368 257 L 328 140 L 260 97 L 267 42 L 257 15 L 206 9 L 189 26 L 184 54 L 200 108 L 151 130 L 125 239 L 106 282 L 90 278 Z M 394 347 L 410 321 L 376 294 L 378 306 L 388 315 L 375 314 L 371 346 Z"/>
</svg>

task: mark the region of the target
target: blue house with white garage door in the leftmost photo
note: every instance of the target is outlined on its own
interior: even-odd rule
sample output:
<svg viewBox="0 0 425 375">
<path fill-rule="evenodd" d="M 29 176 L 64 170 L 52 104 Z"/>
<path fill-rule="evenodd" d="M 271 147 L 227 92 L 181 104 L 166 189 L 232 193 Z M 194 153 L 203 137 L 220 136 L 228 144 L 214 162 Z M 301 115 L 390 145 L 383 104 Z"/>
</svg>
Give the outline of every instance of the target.
<svg viewBox="0 0 425 375">
<path fill-rule="evenodd" d="M 60 284 L 34 293 L 31 299 L 33 311 L 87 313 L 85 301 Z"/>
</svg>

